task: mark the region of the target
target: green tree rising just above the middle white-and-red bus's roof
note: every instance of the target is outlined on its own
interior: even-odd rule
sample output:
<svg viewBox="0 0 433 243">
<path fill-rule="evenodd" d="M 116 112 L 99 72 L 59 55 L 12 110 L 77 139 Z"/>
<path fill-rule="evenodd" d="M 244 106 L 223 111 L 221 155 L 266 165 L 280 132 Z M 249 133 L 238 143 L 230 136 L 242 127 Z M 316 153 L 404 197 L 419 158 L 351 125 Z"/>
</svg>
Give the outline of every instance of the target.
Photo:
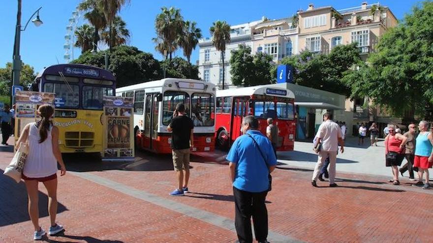
<svg viewBox="0 0 433 243">
<path fill-rule="evenodd" d="M 198 80 L 198 66 L 191 65 L 182 57 L 175 57 L 171 61 L 164 60 L 161 62 L 166 72 L 166 78 L 194 79 Z"/>
</svg>

